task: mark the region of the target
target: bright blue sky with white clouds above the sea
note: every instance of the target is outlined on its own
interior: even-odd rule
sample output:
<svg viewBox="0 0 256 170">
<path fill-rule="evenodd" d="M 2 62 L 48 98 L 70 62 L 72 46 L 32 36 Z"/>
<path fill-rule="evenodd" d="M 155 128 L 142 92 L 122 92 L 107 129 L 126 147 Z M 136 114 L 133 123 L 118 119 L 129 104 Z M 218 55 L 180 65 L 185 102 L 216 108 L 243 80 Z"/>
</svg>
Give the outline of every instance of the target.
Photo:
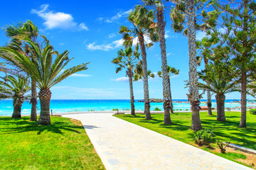
<svg viewBox="0 0 256 170">
<path fill-rule="evenodd" d="M 97 2 L 97 3 L 96 3 Z M 139 1 L 7 1 L 1 2 L 0 26 L 31 20 L 40 33 L 46 35 L 55 50 L 69 50 L 73 65 L 90 62 L 84 72 L 68 77 L 54 86 L 55 99 L 128 99 L 129 83 L 125 72 L 115 74 L 111 63 L 122 47 L 119 26 L 130 26 L 126 17 Z M 186 99 L 188 89 L 188 43 L 183 35 L 171 30 L 169 16 L 166 16 L 166 53 L 168 64 L 180 69 L 178 76 L 171 78 L 171 92 L 174 99 Z M 203 33 L 197 33 L 197 38 Z M 0 45 L 9 39 L 0 32 Z M 161 70 L 159 43 L 146 50 L 148 69 Z M 2 60 L 0 60 L 2 61 Z M 67 68 L 68 68 L 67 67 Z M 201 66 L 203 67 L 203 65 Z M 198 68 L 200 70 L 201 68 Z M 162 98 L 161 78 L 149 80 L 150 98 Z M 143 98 L 143 82 L 134 82 L 134 97 Z M 204 95 L 206 98 L 206 95 Z M 213 98 L 214 95 L 213 95 Z M 240 98 L 240 94 L 227 94 L 226 98 Z"/>
</svg>

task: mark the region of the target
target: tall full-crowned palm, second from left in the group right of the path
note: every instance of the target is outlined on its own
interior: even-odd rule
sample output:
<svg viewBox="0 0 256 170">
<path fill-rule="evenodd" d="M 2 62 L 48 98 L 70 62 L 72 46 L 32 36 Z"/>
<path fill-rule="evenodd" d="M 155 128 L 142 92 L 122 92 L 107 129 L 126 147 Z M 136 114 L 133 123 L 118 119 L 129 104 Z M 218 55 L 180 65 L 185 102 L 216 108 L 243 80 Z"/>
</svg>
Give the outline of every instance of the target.
<svg viewBox="0 0 256 170">
<path fill-rule="evenodd" d="M 129 13 L 127 17 L 128 21 L 132 23 L 132 28 L 121 26 L 119 33 L 123 34 L 124 45 L 127 47 L 132 45 L 135 38 L 139 40 L 139 46 L 142 52 L 142 64 L 143 64 L 143 77 L 144 77 L 144 113 L 146 119 L 151 119 L 150 103 L 149 103 L 149 84 L 147 78 L 147 66 L 146 66 L 146 47 L 153 45 L 151 42 L 146 42 L 145 38 L 150 38 L 152 42 L 158 40 L 156 33 L 156 24 L 154 23 L 154 12 L 149 11 L 143 6 L 135 6 L 134 11 Z"/>
</svg>

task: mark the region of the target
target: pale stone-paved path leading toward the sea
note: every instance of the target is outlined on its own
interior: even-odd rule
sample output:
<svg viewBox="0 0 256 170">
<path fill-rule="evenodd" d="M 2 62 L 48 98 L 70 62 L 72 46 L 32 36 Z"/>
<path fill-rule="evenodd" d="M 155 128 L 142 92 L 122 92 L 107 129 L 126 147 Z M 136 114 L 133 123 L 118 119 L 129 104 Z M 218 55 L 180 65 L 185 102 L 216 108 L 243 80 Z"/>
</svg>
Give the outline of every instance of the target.
<svg viewBox="0 0 256 170">
<path fill-rule="evenodd" d="M 250 169 L 115 118 L 112 113 L 85 113 L 63 117 L 82 122 L 107 170 Z"/>
</svg>

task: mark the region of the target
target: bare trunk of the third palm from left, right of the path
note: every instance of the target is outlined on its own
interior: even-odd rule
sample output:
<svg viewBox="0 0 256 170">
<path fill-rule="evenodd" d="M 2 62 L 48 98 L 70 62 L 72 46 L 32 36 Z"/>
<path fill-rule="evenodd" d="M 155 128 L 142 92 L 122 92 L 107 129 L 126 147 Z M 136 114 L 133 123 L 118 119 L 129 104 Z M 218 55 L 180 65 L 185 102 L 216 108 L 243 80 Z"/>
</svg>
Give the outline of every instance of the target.
<svg viewBox="0 0 256 170">
<path fill-rule="evenodd" d="M 167 70 L 166 59 L 166 40 L 164 38 L 166 22 L 164 22 L 164 8 L 158 9 L 156 13 L 157 26 L 159 29 L 159 41 L 161 48 L 161 65 L 162 65 L 162 80 L 163 80 L 163 101 L 164 101 L 164 124 L 171 123 L 170 106 L 171 106 L 171 91 L 169 74 Z"/>
</svg>

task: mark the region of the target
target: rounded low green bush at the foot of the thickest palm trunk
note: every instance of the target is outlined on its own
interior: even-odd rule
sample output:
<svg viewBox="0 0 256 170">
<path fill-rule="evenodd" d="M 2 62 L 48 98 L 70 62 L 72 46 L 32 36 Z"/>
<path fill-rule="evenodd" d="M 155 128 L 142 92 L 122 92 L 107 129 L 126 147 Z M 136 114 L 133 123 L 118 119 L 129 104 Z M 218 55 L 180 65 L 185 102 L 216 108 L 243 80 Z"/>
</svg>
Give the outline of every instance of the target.
<svg viewBox="0 0 256 170">
<path fill-rule="evenodd" d="M 197 145 L 210 145 L 214 142 L 215 134 L 210 130 L 199 130 L 195 134 L 195 142 Z"/>
</svg>

